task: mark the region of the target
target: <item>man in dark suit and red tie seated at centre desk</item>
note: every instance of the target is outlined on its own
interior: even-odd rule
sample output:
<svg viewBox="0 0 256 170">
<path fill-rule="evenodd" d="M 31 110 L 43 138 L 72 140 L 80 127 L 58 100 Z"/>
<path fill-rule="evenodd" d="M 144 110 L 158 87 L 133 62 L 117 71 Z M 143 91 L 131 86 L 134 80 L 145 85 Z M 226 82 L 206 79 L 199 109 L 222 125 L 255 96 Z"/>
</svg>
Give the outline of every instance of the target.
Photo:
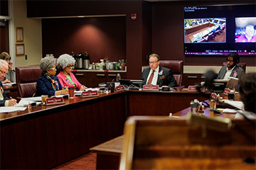
<svg viewBox="0 0 256 170">
<path fill-rule="evenodd" d="M 161 86 L 176 86 L 176 80 L 171 73 L 171 69 L 160 67 L 160 57 L 156 54 L 149 55 L 149 67 L 142 72 L 142 80 L 146 84 L 153 84 Z"/>
</svg>

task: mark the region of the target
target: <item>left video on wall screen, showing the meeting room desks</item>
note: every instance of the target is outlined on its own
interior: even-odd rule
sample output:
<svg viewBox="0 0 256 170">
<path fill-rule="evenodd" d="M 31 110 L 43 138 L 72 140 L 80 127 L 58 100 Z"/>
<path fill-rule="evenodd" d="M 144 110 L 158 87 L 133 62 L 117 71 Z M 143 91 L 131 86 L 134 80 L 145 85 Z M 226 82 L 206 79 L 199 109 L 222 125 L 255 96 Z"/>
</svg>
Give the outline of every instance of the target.
<svg viewBox="0 0 256 170">
<path fill-rule="evenodd" d="M 225 26 L 226 18 L 184 19 L 184 42 L 225 42 Z"/>
</svg>

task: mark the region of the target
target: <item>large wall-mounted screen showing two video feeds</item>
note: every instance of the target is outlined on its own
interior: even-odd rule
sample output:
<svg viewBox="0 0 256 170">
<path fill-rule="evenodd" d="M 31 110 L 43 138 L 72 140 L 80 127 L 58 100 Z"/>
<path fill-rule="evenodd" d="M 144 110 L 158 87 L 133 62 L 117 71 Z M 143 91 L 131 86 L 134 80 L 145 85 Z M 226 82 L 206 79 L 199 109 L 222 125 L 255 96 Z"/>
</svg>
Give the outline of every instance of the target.
<svg viewBox="0 0 256 170">
<path fill-rule="evenodd" d="M 186 6 L 185 55 L 256 55 L 256 4 Z"/>
</svg>

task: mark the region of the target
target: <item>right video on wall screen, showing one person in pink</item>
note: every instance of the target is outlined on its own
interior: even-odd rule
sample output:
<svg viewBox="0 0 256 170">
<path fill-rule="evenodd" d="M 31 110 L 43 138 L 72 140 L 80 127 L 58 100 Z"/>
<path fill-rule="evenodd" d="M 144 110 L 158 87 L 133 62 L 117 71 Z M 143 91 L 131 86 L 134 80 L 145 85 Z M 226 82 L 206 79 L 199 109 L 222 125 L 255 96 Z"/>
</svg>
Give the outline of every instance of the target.
<svg viewBox="0 0 256 170">
<path fill-rule="evenodd" d="M 256 42 L 256 17 L 235 18 L 235 42 Z"/>
</svg>

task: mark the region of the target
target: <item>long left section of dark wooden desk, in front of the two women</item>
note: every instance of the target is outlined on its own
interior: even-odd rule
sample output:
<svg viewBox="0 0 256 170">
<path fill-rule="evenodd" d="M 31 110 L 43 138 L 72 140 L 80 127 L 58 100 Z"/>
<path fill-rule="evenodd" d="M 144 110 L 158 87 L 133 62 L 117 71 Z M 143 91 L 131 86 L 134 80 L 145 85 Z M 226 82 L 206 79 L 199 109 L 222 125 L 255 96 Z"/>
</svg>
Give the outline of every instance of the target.
<svg viewBox="0 0 256 170">
<path fill-rule="evenodd" d="M 50 169 L 122 135 L 124 94 L 75 99 L 1 120 L 1 169 Z"/>
</svg>

